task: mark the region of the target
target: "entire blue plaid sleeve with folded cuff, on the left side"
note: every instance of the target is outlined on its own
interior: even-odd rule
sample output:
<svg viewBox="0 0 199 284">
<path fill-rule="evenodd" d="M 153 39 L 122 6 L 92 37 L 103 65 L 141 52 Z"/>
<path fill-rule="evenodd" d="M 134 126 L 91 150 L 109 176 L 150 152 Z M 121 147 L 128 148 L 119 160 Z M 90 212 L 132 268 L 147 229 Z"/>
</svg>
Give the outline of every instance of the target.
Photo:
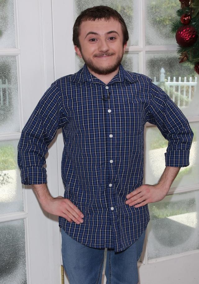
<svg viewBox="0 0 199 284">
<path fill-rule="evenodd" d="M 55 81 L 39 100 L 21 132 L 17 163 L 23 184 L 47 183 L 45 154 L 58 128 L 66 122 L 61 92 Z"/>
</svg>

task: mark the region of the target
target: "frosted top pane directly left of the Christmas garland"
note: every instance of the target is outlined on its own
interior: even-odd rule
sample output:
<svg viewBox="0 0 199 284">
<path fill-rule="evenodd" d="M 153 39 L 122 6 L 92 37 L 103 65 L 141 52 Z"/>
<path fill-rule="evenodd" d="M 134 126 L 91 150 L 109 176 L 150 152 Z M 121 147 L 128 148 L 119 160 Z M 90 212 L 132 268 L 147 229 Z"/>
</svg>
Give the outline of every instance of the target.
<svg viewBox="0 0 199 284">
<path fill-rule="evenodd" d="M 146 45 L 176 44 L 175 34 L 170 32 L 180 9 L 179 0 L 145 0 L 146 5 Z"/>
</svg>

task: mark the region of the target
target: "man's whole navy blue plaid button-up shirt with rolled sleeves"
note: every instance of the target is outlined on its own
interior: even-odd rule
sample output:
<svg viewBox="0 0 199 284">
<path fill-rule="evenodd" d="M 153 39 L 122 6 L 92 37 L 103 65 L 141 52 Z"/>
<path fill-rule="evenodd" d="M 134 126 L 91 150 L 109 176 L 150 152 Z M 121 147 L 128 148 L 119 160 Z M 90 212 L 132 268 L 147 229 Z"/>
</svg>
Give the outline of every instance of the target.
<svg viewBox="0 0 199 284">
<path fill-rule="evenodd" d="M 81 210 L 84 222 L 59 217 L 59 227 L 74 240 L 119 252 L 147 227 L 148 205 L 125 204 L 126 195 L 142 185 L 147 121 L 169 141 L 165 165 L 188 166 L 193 137 L 189 123 L 145 75 L 120 65 L 106 85 L 84 65 L 53 82 L 40 99 L 18 144 L 21 180 L 25 185 L 47 183 L 45 154 L 62 127 L 64 198 Z"/>
</svg>

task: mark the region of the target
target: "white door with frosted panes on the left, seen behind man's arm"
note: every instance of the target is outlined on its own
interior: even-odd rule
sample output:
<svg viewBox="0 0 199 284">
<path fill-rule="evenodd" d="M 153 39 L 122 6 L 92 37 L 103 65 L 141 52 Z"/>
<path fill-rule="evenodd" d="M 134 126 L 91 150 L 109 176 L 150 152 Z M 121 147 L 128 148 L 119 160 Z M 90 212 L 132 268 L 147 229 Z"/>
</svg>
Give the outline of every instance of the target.
<svg viewBox="0 0 199 284">
<path fill-rule="evenodd" d="M 58 218 L 22 186 L 17 165 L 21 130 L 54 81 L 51 1 L 1 0 L 0 18 L 0 283 L 57 284 Z M 49 153 L 48 186 L 58 196 L 56 143 Z"/>
</svg>

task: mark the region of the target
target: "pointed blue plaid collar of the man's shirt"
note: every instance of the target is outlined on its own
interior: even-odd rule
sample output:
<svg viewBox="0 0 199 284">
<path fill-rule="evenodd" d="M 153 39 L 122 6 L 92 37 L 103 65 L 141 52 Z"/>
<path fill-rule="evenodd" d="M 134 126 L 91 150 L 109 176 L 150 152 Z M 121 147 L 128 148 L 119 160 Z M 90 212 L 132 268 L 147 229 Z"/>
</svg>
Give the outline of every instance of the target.
<svg viewBox="0 0 199 284">
<path fill-rule="evenodd" d="M 101 80 L 99 80 L 97 77 L 92 75 L 90 71 L 88 70 L 88 67 L 86 64 L 72 76 L 72 81 L 76 83 L 83 83 L 83 82 L 90 82 L 90 83 L 102 83 Z M 128 72 L 124 69 L 122 64 L 119 65 L 119 71 L 118 74 L 116 74 L 113 79 L 109 82 L 109 84 L 115 83 L 115 82 L 124 82 L 124 80 L 129 81 L 130 83 L 137 81 L 137 76 L 133 74 L 133 72 Z M 109 85 L 108 84 L 108 85 Z"/>
</svg>

